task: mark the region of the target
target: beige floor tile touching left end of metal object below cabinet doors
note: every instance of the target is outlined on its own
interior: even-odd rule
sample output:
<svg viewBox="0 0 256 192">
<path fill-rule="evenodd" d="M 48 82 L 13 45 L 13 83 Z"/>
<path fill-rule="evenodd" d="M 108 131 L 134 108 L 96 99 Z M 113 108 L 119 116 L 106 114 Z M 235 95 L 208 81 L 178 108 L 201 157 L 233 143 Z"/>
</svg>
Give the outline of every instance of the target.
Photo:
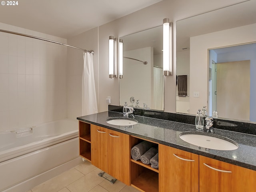
<svg viewBox="0 0 256 192">
<path fill-rule="evenodd" d="M 98 176 L 100 171 L 101 170 L 97 168 L 72 184 L 66 186 L 66 188 L 71 192 L 88 192 L 105 180 L 103 177 Z"/>
</svg>

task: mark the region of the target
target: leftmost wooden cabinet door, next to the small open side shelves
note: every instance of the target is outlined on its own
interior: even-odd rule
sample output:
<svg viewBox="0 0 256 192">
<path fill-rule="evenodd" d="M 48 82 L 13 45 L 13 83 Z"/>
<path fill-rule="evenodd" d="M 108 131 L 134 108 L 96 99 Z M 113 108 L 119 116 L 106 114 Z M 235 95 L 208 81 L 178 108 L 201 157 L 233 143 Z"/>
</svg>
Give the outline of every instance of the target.
<svg viewBox="0 0 256 192">
<path fill-rule="evenodd" d="M 91 125 L 92 164 L 108 172 L 108 129 Z"/>
</svg>

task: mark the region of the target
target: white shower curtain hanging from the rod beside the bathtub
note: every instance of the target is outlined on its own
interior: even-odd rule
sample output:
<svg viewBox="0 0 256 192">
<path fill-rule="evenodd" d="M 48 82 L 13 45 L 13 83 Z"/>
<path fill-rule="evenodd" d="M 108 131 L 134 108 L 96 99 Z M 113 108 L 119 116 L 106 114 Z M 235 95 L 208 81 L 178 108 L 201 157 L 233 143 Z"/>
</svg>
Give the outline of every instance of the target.
<svg viewBox="0 0 256 192">
<path fill-rule="evenodd" d="M 82 116 L 98 112 L 92 53 L 84 52 L 82 73 Z"/>
</svg>

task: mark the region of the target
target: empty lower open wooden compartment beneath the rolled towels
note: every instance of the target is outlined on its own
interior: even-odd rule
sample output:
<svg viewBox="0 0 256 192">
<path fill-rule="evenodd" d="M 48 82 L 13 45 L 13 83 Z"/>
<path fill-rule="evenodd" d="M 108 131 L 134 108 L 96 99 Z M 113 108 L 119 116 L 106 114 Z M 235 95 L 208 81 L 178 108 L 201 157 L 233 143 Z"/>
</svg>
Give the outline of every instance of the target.
<svg viewBox="0 0 256 192">
<path fill-rule="evenodd" d="M 158 173 L 131 162 L 131 185 L 142 191 L 158 192 Z"/>
</svg>

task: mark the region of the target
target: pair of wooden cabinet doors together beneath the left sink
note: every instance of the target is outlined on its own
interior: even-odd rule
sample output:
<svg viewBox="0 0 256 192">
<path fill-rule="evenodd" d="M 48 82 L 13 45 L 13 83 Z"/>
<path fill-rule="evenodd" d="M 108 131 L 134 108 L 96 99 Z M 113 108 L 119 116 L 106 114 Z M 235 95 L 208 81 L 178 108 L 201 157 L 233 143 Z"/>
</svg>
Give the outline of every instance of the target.
<svg viewBox="0 0 256 192">
<path fill-rule="evenodd" d="M 130 185 L 129 135 L 91 124 L 92 164 Z"/>
</svg>

